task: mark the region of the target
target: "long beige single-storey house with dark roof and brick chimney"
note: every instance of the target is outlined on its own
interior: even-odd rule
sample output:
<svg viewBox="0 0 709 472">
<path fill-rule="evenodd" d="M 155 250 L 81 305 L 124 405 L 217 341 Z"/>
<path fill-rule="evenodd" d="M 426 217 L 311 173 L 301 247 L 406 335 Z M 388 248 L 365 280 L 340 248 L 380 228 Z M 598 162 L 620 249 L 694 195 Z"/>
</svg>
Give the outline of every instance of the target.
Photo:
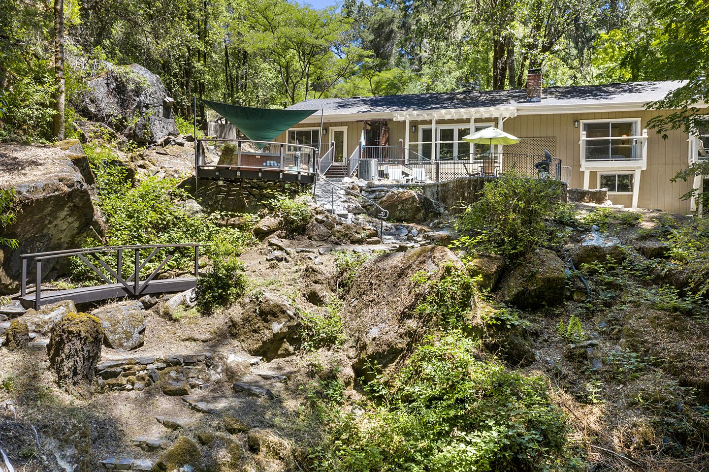
<svg viewBox="0 0 709 472">
<path fill-rule="evenodd" d="M 376 158 L 380 169 L 382 163 L 391 164 L 385 167 L 391 167 L 394 176 L 401 175 L 396 164 L 410 162 L 429 168 L 438 164 L 438 172 L 464 169 L 470 174 L 475 166 L 469 164 L 482 162 L 478 157 L 484 155 L 496 156 L 497 167 L 485 169 L 481 164 L 475 174 L 504 172 L 509 162 L 521 162 L 515 159 L 534 156 L 538 161 L 548 151 L 560 159 L 557 178 L 571 187 L 608 189 L 613 203 L 627 207 L 677 213 L 695 209 L 694 202 L 681 201 L 680 196 L 692 184 L 709 189 L 709 180 L 670 179 L 689 162 L 707 158 L 709 130 L 699 136 L 676 130 L 663 140 L 647 129 L 647 122 L 664 112 L 645 108 L 683 82 L 545 89 L 540 83 L 541 72 L 535 70 L 530 71 L 527 89 L 306 100 L 289 109 L 321 109 L 322 116 L 309 116 L 276 141 L 320 147 L 321 156 L 333 147 L 332 169 L 340 165 L 343 174 L 348 162 Z M 522 139 L 495 150 L 462 140 L 486 126 Z"/>
</svg>

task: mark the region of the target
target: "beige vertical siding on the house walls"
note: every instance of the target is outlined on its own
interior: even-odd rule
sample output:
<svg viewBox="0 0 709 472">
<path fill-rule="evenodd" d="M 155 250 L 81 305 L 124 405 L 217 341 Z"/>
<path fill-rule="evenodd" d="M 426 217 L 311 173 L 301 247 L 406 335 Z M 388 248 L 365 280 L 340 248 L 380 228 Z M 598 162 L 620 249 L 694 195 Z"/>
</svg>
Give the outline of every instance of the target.
<svg viewBox="0 0 709 472">
<path fill-rule="evenodd" d="M 606 113 L 555 113 L 540 115 L 520 115 L 508 118 L 503 123 L 503 130 L 518 137 L 553 137 L 555 138 L 555 148 L 549 150 L 555 157 L 562 159 L 562 165 L 571 167 L 571 187 L 581 188 L 584 186 L 584 172 L 581 172 L 581 124 L 579 128 L 574 128 L 574 121 L 597 120 L 613 118 L 640 118 L 640 130 L 647 129 L 647 122 L 653 116 L 657 116 L 657 111 L 620 111 Z M 332 126 L 347 126 L 347 155 L 357 146 L 357 142 L 362 135 L 363 120 L 350 122 L 326 121 L 325 128 Z M 388 120 L 390 133 L 390 145 L 398 144 L 398 140 L 404 140 L 406 135 L 406 122 Z M 437 125 L 452 123 L 469 123 L 469 120 L 437 120 Z M 476 124 L 492 123 L 497 125 L 497 121 L 491 118 L 476 119 Z M 409 125 L 416 125 L 417 132 L 410 133 L 410 142 L 418 141 L 418 127 L 430 125 L 430 120 L 411 121 Z M 300 124 L 296 128 L 319 128 L 320 123 Z M 659 208 L 675 213 L 689 213 L 688 201 L 681 201 L 679 197 L 691 188 L 691 182 L 670 181 L 677 172 L 685 168 L 688 164 L 688 135 L 679 131 L 668 133 L 668 139 L 663 140 L 654 130 L 648 130 L 647 139 L 647 170 L 642 171 L 640 176 L 640 193 L 638 206 L 641 208 Z M 329 138 L 329 135 L 326 139 Z M 278 141 L 286 141 L 286 133 L 279 136 Z M 324 144 L 325 140 L 323 140 Z M 503 148 L 504 150 L 504 148 Z M 623 171 L 620 171 L 623 172 Z M 591 172 L 589 188 L 598 188 L 598 173 Z M 625 206 L 632 205 L 630 195 L 610 194 L 610 200 Z"/>
</svg>

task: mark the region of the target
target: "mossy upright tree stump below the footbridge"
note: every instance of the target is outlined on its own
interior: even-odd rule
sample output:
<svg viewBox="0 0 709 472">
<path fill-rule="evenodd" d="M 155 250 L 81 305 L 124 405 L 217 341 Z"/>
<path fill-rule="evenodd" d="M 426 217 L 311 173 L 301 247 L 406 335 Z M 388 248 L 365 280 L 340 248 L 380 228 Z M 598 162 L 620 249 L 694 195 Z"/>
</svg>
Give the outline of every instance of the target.
<svg viewBox="0 0 709 472">
<path fill-rule="evenodd" d="M 69 313 L 52 327 L 47 354 L 60 386 L 83 396 L 89 394 L 103 342 L 101 322 L 85 313 Z"/>
</svg>

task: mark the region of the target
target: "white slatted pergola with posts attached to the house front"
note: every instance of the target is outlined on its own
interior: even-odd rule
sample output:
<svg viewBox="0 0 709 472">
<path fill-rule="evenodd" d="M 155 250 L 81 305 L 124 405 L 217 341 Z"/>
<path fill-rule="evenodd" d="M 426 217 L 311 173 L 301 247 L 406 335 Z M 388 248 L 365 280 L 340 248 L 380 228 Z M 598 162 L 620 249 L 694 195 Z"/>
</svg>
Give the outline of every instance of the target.
<svg viewBox="0 0 709 472">
<path fill-rule="evenodd" d="M 517 116 L 516 106 L 489 106 L 479 108 L 447 108 L 445 110 L 411 110 L 411 111 L 395 111 L 393 117 L 395 121 L 406 121 L 406 134 L 404 138 L 404 147 L 408 149 L 409 131 L 411 130 L 411 121 L 428 121 L 431 122 L 431 141 L 432 149 L 437 149 L 437 120 L 470 120 L 470 132 L 475 131 L 476 118 L 495 118 L 497 120 L 498 130 L 503 129 L 503 123 L 508 118 Z M 498 148 L 498 152 L 502 152 L 502 147 Z"/>
</svg>

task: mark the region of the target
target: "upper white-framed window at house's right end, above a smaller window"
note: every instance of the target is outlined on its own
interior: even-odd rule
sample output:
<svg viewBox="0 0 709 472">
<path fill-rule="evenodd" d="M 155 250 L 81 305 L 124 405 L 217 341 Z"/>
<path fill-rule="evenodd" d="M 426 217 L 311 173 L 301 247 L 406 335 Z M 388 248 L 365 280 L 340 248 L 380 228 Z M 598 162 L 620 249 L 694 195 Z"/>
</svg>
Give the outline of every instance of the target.
<svg viewBox="0 0 709 472">
<path fill-rule="evenodd" d="M 581 120 L 586 162 L 636 161 L 640 150 L 640 118 Z"/>
</svg>

